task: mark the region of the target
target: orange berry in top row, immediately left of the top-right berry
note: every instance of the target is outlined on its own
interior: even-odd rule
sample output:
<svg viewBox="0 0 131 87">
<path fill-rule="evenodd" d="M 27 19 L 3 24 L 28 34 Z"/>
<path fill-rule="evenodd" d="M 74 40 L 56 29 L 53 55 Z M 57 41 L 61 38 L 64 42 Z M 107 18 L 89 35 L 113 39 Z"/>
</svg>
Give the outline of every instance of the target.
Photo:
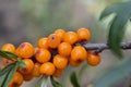
<svg viewBox="0 0 131 87">
<path fill-rule="evenodd" d="M 69 42 L 71 45 L 75 44 L 78 40 L 79 40 L 79 37 L 74 32 L 68 32 L 63 36 L 63 41 Z"/>
</svg>

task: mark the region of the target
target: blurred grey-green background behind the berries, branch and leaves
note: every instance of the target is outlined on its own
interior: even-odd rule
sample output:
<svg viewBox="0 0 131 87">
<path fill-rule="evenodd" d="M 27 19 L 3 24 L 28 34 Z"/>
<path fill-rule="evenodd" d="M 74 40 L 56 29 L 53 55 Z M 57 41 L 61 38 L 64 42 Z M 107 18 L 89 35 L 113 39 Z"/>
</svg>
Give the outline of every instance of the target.
<svg viewBox="0 0 131 87">
<path fill-rule="evenodd" d="M 128 0 L 0 0 L 0 46 L 5 42 L 19 46 L 23 41 L 36 46 L 39 38 L 48 36 L 57 28 L 75 32 L 80 27 L 91 30 L 90 42 L 107 42 L 108 22 L 112 16 L 100 22 L 99 15 L 107 5 L 123 1 Z M 130 26 L 129 24 L 128 27 Z M 130 28 L 127 29 L 123 40 L 131 40 Z M 75 71 L 81 86 L 90 87 L 88 84 L 105 77 L 105 74 L 111 72 L 115 66 L 124 67 L 122 64 L 127 63 L 131 51 L 123 52 L 126 59 L 119 60 L 109 50 L 105 50 L 100 53 L 102 63 L 98 66 L 88 66 L 86 62 L 79 67 L 69 66 L 59 79 L 64 87 L 72 87 L 70 73 Z M 121 72 L 114 75 L 116 74 Z M 129 74 L 109 87 L 129 87 L 130 77 Z M 34 87 L 36 79 L 25 82 L 22 87 Z M 102 83 L 109 80 L 111 77 Z"/>
</svg>

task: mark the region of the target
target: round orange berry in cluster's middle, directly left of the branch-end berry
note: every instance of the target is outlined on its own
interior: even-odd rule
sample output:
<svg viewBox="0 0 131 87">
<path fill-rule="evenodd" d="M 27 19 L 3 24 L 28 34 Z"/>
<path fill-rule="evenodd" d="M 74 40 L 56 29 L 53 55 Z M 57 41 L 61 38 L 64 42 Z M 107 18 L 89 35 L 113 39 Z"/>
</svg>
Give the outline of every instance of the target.
<svg viewBox="0 0 131 87">
<path fill-rule="evenodd" d="M 72 50 L 72 46 L 68 42 L 61 42 L 58 46 L 58 52 L 63 57 L 69 57 L 71 54 L 71 50 Z"/>
</svg>

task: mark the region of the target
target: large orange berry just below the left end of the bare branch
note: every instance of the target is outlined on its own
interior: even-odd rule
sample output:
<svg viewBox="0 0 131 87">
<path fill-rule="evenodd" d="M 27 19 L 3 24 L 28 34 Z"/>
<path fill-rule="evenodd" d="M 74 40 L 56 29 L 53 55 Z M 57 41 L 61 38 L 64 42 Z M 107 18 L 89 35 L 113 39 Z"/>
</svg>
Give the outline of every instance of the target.
<svg viewBox="0 0 131 87">
<path fill-rule="evenodd" d="M 83 62 L 87 58 L 87 52 L 84 47 L 75 46 L 71 51 L 71 60 Z"/>
</svg>

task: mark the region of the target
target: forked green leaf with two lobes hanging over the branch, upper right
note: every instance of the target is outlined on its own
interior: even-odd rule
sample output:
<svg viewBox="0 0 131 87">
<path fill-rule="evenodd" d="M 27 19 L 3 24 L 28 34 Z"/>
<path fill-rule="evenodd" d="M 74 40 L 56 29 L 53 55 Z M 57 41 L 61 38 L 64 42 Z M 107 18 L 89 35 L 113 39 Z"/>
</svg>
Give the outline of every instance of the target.
<svg viewBox="0 0 131 87">
<path fill-rule="evenodd" d="M 108 44 L 112 52 L 115 52 L 119 57 L 122 57 L 122 53 L 120 50 L 120 42 L 124 35 L 126 25 L 131 17 L 131 1 L 128 1 L 124 3 L 117 3 L 110 7 L 107 7 L 103 11 L 100 15 L 100 20 L 103 20 L 104 17 L 112 13 L 115 13 L 116 15 L 112 22 L 110 23 Z"/>
</svg>

